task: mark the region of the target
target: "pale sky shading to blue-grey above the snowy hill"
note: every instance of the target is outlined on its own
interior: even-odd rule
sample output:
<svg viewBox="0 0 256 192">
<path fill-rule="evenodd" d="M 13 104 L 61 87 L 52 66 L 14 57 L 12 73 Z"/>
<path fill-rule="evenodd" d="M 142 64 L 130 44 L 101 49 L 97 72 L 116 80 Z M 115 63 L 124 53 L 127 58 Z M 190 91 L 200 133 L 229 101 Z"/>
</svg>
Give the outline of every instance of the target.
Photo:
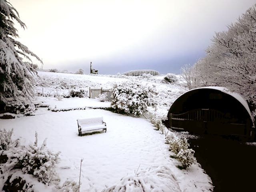
<svg viewBox="0 0 256 192">
<path fill-rule="evenodd" d="M 255 0 L 10 0 L 44 69 L 180 73 Z M 35 62 L 39 65 L 39 62 Z M 40 65 L 41 67 L 41 65 Z"/>
</svg>

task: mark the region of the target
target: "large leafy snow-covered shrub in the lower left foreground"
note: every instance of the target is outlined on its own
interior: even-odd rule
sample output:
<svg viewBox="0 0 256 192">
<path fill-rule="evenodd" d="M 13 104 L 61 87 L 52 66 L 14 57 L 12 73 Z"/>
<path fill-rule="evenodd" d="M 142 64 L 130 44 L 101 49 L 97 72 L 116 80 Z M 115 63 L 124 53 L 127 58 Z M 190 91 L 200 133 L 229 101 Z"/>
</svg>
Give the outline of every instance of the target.
<svg viewBox="0 0 256 192">
<path fill-rule="evenodd" d="M 59 161 L 59 154 L 53 153 L 45 148 L 46 140 L 41 146 L 37 146 L 36 141 L 29 146 L 16 145 L 8 150 L 0 150 L 0 156 L 7 156 L 7 162 L 0 164 L 0 172 L 6 173 L 18 169 L 24 174 L 31 174 L 38 178 L 38 181 L 49 184 L 58 182 L 59 177 L 56 173 L 56 163 Z M 7 179 L 7 178 L 5 178 Z"/>
</svg>

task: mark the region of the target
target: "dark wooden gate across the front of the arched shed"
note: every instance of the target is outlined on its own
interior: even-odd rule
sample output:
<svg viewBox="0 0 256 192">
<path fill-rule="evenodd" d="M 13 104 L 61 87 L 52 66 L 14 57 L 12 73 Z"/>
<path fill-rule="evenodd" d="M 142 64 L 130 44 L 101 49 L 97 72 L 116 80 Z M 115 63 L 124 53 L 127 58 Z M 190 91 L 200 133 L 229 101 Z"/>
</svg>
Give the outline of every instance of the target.
<svg viewBox="0 0 256 192">
<path fill-rule="evenodd" d="M 234 135 L 250 138 L 250 119 L 239 122 L 215 109 L 195 109 L 182 114 L 170 114 L 170 128 L 196 134 Z"/>
</svg>

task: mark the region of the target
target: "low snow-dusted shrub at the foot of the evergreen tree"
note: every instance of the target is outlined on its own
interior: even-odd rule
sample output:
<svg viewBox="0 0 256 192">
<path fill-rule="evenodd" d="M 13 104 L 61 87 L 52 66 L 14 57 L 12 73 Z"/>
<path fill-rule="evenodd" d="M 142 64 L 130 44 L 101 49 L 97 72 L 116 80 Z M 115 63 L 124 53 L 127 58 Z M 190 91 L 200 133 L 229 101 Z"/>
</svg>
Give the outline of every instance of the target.
<svg viewBox="0 0 256 192">
<path fill-rule="evenodd" d="M 6 112 L 24 114 L 26 116 L 34 115 L 35 110 L 35 105 L 27 101 L 12 101 L 5 106 Z"/>
</svg>

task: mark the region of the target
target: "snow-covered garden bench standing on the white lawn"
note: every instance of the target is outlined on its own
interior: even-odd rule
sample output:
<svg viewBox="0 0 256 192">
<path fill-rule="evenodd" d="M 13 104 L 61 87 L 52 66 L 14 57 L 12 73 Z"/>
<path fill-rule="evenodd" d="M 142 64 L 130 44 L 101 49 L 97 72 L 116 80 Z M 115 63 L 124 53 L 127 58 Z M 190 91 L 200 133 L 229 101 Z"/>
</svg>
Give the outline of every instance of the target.
<svg viewBox="0 0 256 192">
<path fill-rule="evenodd" d="M 94 118 L 86 118 L 86 119 L 77 119 L 78 124 L 78 135 L 82 136 L 82 133 L 87 131 L 94 130 L 105 130 L 107 132 L 106 123 L 103 120 L 103 117 L 94 117 Z"/>
</svg>

